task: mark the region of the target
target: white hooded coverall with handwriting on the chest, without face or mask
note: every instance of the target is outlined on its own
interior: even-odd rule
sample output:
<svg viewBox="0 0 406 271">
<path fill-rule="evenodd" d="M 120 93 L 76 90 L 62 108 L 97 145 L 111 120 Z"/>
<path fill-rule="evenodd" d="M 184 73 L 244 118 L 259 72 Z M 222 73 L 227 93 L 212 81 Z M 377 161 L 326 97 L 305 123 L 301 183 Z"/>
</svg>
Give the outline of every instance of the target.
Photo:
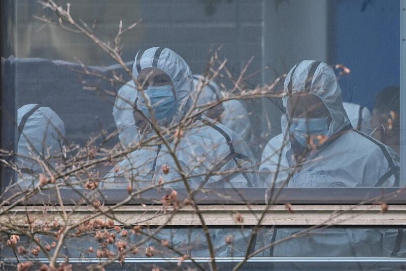
<svg viewBox="0 0 406 271">
<path fill-rule="evenodd" d="M 398 156 L 383 143 L 351 129 L 332 68 L 314 61 L 297 64 L 284 83 L 285 108 L 289 92 L 304 92 L 304 89 L 319 97 L 330 113 L 328 139 L 311 150 L 306 162 L 298 168 L 292 159 L 288 117 L 283 115 L 283 133 L 269 140 L 263 151 L 259 170 L 267 173 L 261 174 L 261 179 L 268 186 L 274 179 L 277 186 L 282 186 L 293 172 L 287 187 L 399 186 Z"/>
</svg>

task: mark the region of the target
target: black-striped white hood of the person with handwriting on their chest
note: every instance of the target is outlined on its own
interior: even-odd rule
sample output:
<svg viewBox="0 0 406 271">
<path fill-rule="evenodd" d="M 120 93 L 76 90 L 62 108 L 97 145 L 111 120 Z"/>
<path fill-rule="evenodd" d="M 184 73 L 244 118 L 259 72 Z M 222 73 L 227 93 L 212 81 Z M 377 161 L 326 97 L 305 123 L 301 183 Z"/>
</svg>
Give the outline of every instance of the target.
<svg viewBox="0 0 406 271">
<path fill-rule="evenodd" d="M 343 107 L 341 87 L 333 69 L 326 63 L 304 60 L 290 70 L 284 82 L 283 106 L 286 108 L 289 95 L 300 92 L 319 97 L 328 109 L 331 123 L 327 136 L 332 136 L 350 125 Z M 284 119 L 282 126 L 286 129 Z"/>
</svg>

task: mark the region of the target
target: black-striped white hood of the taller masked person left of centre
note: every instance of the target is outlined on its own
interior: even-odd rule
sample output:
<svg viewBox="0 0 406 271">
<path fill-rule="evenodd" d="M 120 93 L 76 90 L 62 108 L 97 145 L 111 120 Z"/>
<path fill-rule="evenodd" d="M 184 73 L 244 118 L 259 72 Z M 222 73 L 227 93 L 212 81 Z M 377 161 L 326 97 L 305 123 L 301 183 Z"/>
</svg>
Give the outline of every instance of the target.
<svg viewBox="0 0 406 271">
<path fill-rule="evenodd" d="M 180 121 L 192 105 L 190 94 L 193 91 L 193 78 L 189 66 L 180 55 L 165 47 L 139 50 L 135 60 L 136 62 L 132 66 L 134 78 L 137 78 L 141 70 L 145 68 L 158 68 L 171 78 L 177 101 L 177 110 L 172 121 Z M 141 98 L 142 94 L 138 93 L 139 101 Z"/>
</svg>

